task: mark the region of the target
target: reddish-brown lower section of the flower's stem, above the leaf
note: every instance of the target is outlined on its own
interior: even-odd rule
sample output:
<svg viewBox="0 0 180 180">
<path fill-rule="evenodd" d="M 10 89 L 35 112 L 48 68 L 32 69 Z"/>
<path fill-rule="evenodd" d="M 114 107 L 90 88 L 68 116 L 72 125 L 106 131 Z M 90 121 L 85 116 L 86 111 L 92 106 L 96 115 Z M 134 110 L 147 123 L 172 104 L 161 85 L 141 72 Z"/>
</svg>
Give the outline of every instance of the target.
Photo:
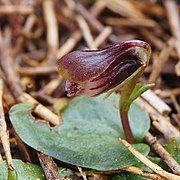
<svg viewBox="0 0 180 180">
<path fill-rule="evenodd" d="M 126 140 L 129 143 L 135 143 L 135 139 L 133 136 L 133 133 L 131 131 L 131 127 L 129 124 L 129 119 L 128 119 L 128 112 L 126 111 L 120 111 L 120 117 L 121 117 L 121 122 L 122 122 L 122 126 L 123 126 L 123 130 L 126 136 Z"/>
</svg>

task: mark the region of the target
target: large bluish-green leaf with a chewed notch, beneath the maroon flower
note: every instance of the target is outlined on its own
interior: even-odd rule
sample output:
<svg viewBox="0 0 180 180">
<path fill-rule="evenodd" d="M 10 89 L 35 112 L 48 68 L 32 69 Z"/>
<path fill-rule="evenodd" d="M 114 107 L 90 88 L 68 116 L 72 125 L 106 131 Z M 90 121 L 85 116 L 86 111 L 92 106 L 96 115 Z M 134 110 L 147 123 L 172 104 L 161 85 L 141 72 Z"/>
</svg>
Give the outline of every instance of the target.
<svg viewBox="0 0 180 180">
<path fill-rule="evenodd" d="M 124 137 L 119 96 L 111 95 L 105 101 L 103 98 L 74 98 L 62 111 L 64 124 L 54 129 L 33 120 L 29 113 L 33 108 L 31 104 L 15 105 L 10 119 L 26 144 L 63 162 L 96 170 L 135 165 L 137 159 L 118 140 Z M 149 117 L 133 104 L 129 118 L 135 138 L 140 142 L 149 129 Z M 145 155 L 149 152 L 145 144 L 134 146 Z"/>
</svg>

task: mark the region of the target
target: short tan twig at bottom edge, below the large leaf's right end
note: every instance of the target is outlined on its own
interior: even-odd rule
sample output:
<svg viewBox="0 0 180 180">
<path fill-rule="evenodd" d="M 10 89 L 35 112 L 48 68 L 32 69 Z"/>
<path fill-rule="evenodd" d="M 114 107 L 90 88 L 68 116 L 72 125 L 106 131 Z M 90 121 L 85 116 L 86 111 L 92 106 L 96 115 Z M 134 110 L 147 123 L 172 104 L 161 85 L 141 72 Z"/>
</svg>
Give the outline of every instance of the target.
<svg viewBox="0 0 180 180">
<path fill-rule="evenodd" d="M 122 170 L 136 174 L 136 175 L 139 175 L 139 176 L 142 176 L 142 177 L 154 179 L 154 180 L 164 180 L 165 179 L 162 176 L 159 176 L 158 174 L 146 172 L 143 169 L 140 169 L 140 168 L 135 167 L 135 166 L 125 167 Z"/>
</svg>

